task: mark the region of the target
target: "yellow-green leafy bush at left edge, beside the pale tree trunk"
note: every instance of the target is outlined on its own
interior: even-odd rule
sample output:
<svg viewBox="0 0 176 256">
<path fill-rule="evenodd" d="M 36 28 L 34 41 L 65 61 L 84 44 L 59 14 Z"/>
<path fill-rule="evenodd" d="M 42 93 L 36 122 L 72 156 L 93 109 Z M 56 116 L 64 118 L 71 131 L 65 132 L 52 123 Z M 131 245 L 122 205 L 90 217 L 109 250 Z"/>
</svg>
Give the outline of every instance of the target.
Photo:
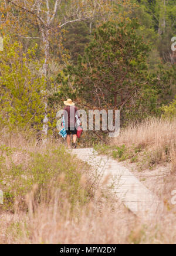
<svg viewBox="0 0 176 256">
<path fill-rule="evenodd" d="M 45 106 L 43 93 L 45 78 L 40 76 L 41 65 L 35 60 L 36 47 L 23 52 L 19 42 L 4 38 L 0 52 L 0 120 L 13 129 L 42 127 Z"/>
</svg>

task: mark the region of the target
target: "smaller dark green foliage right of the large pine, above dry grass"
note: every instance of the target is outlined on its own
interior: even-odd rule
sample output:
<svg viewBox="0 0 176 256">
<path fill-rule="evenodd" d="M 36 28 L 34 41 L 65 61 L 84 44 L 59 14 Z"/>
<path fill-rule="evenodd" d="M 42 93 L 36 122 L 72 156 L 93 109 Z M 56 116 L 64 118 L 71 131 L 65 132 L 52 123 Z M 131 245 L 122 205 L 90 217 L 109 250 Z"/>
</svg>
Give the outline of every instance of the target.
<svg viewBox="0 0 176 256">
<path fill-rule="evenodd" d="M 146 81 L 140 90 L 140 97 L 126 104 L 121 120 L 125 125 L 140 122 L 148 116 L 160 116 L 161 106 L 168 104 L 174 91 L 174 68 L 166 69 L 160 64 L 158 70 L 146 74 Z"/>
</svg>

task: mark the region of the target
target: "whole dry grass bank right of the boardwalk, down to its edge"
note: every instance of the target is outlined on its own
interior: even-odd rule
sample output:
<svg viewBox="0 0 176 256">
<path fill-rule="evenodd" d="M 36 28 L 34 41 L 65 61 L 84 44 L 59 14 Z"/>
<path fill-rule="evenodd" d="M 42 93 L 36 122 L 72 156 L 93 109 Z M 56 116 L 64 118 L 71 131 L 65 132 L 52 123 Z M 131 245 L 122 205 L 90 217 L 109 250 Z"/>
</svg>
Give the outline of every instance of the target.
<svg viewBox="0 0 176 256">
<path fill-rule="evenodd" d="M 176 120 L 155 117 L 146 119 L 137 126 L 131 125 L 121 129 L 120 136 L 111 140 L 110 143 L 111 145 L 125 145 L 128 148 L 134 146 L 141 148 L 141 151 L 137 153 L 138 159 L 134 166 L 140 166 L 141 169 L 138 170 L 143 170 L 144 173 L 136 172 L 137 177 L 148 179 L 148 176 L 153 176 L 154 180 L 148 181 L 148 186 L 150 189 L 153 187 L 154 191 L 161 185 L 161 197 L 170 202 L 171 191 L 175 189 L 176 181 Z M 129 163 L 131 165 L 130 161 Z M 165 171 L 161 172 L 160 167 Z M 150 170 L 157 168 L 158 172 L 153 175 L 149 168 Z"/>
</svg>

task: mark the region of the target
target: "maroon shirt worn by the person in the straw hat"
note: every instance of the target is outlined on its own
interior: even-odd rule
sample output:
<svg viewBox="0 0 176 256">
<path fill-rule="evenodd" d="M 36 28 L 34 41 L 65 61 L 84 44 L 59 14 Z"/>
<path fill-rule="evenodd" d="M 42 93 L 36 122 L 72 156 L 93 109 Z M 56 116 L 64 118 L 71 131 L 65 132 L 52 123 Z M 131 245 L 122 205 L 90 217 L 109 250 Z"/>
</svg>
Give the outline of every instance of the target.
<svg viewBox="0 0 176 256">
<path fill-rule="evenodd" d="M 67 111 L 67 114 L 64 113 L 63 116 L 64 116 L 64 119 L 65 119 L 65 127 L 75 127 L 75 123 L 76 123 L 76 117 L 75 117 L 75 114 L 76 114 L 76 111 L 77 111 L 77 107 L 75 106 L 66 106 L 64 108 L 64 110 Z M 80 118 L 79 116 L 79 112 L 77 112 L 77 116 L 78 118 Z"/>
</svg>

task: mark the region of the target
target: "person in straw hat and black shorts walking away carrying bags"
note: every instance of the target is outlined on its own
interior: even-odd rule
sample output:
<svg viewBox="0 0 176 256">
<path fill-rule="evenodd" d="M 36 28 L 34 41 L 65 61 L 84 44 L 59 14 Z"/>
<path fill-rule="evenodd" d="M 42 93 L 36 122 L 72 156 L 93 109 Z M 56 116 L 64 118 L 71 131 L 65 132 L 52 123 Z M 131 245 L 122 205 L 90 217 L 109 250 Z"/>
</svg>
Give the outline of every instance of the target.
<svg viewBox="0 0 176 256">
<path fill-rule="evenodd" d="M 77 107 L 75 107 L 75 103 L 71 99 L 67 99 L 63 101 L 65 104 L 64 108 L 64 119 L 65 119 L 65 129 L 67 133 L 66 142 L 67 146 L 70 149 L 70 142 L 71 142 L 71 134 L 73 135 L 73 148 L 76 149 L 76 139 L 77 139 L 77 129 L 76 129 L 76 114 L 77 117 L 80 119 L 79 111 Z M 81 123 L 80 123 L 81 125 Z"/>
</svg>

